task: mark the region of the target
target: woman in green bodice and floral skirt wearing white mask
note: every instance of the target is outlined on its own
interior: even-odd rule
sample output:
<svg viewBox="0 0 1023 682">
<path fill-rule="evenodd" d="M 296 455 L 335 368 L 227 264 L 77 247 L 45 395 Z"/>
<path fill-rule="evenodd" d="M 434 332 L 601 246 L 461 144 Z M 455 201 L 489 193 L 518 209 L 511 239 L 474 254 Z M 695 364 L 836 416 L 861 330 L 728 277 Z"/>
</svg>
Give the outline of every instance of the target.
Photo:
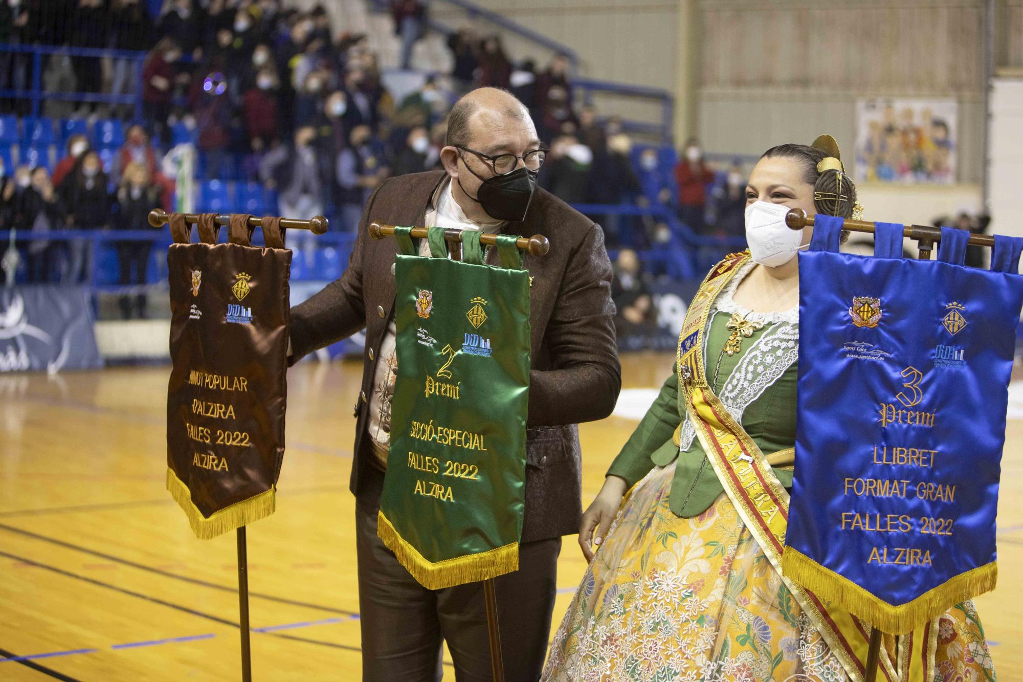
<svg viewBox="0 0 1023 682">
<path fill-rule="evenodd" d="M 746 189 L 750 252 L 716 265 L 700 298 L 708 310 L 707 387 L 792 486 L 799 338 L 797 252 L 810 242 L 784 224 L 850 217 L 856 190 L 837 144 L 783 144 L 764 153 Z M 690 319 L 686 319 L 688 334 Z M 693 338 L 686 336 L 686 338 Z M 679 357 L 683 348 L 679 348 Z M 672 375 L 608 471 L 583 515 L 589 566 L 554 636 L 542 680 L 857 680 L 870 627 L 804 610 L 750 535 L 705 454 L 683 381 Z M 627 494 L 626 494 L 627 492 Z M 595 548 L 595 555 L 594 549 Z M 847 614 L 846 614 L 847 615 Z M 834 626 L 834 627 L 833 627 Z M 851 627 L 850 627 L 851 626 Z M 926 638 L 926 642 L 922 641 Z M 910 646 L 885 636 L 879 680 L 994 680 L 972 601 L 946 611 Z M 859 660 L 850 652 L 859 651 Z M 916 658 L 914 658 L 916 656 Z M 904 671 L 909 671 L 903 675 Z"/>
</svg>

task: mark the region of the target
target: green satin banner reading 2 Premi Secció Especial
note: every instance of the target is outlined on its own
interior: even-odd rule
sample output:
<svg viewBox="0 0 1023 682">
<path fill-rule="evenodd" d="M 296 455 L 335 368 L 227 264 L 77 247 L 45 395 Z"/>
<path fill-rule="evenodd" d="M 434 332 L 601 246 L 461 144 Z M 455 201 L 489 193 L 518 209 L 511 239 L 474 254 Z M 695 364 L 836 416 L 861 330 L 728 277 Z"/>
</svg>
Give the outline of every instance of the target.
<svg viewBox="0 0 1023 682">
<path fill-rule="evenodd" d="M 484 264 L 480 233 L 448 259 L 409 227 L 395 237 L 398 371 L 377 534 L 424 587 L 487 580 L 519 567 L 529 400 L 529 273 L 516 238 L 498 236 L 502 267 Z"/>
</svg>

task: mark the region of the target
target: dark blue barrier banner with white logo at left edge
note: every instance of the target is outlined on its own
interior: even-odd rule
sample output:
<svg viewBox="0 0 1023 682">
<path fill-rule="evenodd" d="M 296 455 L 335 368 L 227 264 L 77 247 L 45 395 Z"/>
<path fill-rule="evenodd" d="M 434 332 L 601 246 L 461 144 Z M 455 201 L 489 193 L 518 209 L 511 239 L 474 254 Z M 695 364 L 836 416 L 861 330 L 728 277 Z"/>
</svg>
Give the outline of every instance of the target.
<svg viewBox="0 0 1023 682">
<path fill-rule="evenodd" d="M 102 367 L 88 292 L 48 285 L 0 289 L 0 373 Z"/>
</svg>

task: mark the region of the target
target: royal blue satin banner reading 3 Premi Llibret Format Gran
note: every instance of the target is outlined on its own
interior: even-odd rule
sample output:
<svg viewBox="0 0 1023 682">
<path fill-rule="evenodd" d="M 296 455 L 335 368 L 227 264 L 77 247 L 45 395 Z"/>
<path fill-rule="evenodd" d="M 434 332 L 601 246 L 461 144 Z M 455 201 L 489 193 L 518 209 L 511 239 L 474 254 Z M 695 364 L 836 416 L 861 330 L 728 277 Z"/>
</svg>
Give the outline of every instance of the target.
<svg viewBox="0 0 1023 682">
<path fill-rule="evenodd" d="M 785 573 L 884 632 L 904 633 L 994 587 L 994 517 L 1023 276 L 1019 244 L 964 266 L 839 254 L 817 216 L 799 256 L 796 466 Z"/>
</svg>

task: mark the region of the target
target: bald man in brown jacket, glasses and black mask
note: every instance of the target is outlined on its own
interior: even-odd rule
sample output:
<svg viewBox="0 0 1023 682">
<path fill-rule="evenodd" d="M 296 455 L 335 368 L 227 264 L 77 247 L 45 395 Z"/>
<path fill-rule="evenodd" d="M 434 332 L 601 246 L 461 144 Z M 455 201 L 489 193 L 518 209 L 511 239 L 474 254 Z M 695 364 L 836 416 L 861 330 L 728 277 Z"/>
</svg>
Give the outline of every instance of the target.
<svg viewBox="0 0 1023 682">
<path fill-rule="evenodd" d="M 372 221 L 550 240 L 546 256 L 525 256 L 533 281 L 526 509 L 519 570 L 495 581 L 505 679 L 539 678 L 561 537 L 578 531 L 582 509 L 576 424 L 607 417 L 621 388 L 604 236 L 592 221 L 535 188 L 543 154 L 518 99 L 492 88 L 469 93 L 448 118 L 444 170 L 391 178 L 377 187 L 362 214 L 348 269 L 292 310 L 292 361 L 366 328 L 351 479 L 364 680 L 440 680 L 442 639 L 459 681 L 491 678 L 481 584 L 427 590 L 376 537 L 398 363 L 398 246 L 368 238 Z M 496 264 L 494 250 L 487 258 Z"/>
</svg>

